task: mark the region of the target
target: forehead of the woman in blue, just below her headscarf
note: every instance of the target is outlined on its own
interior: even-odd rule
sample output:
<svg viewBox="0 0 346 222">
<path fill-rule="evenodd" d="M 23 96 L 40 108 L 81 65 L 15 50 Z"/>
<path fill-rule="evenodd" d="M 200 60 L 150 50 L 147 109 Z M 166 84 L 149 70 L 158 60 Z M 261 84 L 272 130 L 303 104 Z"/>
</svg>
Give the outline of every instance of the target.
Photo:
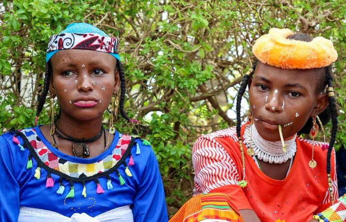
<svg viewBox="0 0 346 222">
<path fill-rule="evenodd" d="M 52 66 L 60 66 L 66 63 L 69 64 L 115 64 L 116 59 L 114 56 L 94 50 L 85 49 L 64 49 L 55 53 L 51 58 Z"/>
</svg>

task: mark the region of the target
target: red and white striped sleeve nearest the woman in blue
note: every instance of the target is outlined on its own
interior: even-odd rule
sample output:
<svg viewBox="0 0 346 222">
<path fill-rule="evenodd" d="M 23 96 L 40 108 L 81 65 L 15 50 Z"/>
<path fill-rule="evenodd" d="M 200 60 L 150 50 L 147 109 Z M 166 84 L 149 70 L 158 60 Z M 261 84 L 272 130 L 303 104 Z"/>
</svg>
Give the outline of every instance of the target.
<svg viewBox="0 0 346 222">
<path fill-rule="evenodd" d="M 197 139 L 192 148 L 192 163 L 195 172 L 194 195 L 208 193 L 224 185 L 237 185 L 239 173 L 227 151 L 207 135 Z"/>
</svg>

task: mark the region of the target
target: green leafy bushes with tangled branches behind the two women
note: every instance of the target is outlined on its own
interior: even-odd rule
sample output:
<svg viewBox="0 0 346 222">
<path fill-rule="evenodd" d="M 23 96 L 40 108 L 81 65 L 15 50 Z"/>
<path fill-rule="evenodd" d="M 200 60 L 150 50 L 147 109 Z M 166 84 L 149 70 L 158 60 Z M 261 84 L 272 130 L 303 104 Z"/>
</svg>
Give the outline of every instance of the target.
<svg viewBox="0 0 346 222">
<path fill-rule="evenodd" d="M 239 77 L 251 67 L 253 42 L 271 27 L 334 42 L 341 111 L 336 147 L 346 142 L 344 1 L 6 0 L 2 5 L 0 128 L 33 125 L 51 35 L 72 22 L 88 22 L 120 37 L 126 110 L 141 123 L 118 118 L 117 128 L 152 143 L 171 214 L 192 195 L 193 142 L 234 125 Z M 43 110 L 41 124 L 49 122 L 47 114 Z M 109 113 L 104 117 L 107 123 Z"/>
</svg>

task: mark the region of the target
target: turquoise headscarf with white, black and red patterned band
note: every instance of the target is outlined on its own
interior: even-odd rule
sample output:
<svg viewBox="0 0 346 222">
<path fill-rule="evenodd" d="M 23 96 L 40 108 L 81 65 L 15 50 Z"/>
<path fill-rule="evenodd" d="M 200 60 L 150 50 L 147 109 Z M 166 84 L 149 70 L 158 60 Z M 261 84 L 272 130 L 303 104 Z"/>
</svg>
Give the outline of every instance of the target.
<svg viewBox="0 0 346 222">
<path fill-rule="evenodd" d="M 46 62 L 64 49 L 87 49 L 106 52 L 120 60 L 118 38 L 109 37 L 103 31 L 87 23 L 72 23 L 58 35 L 49 38 Z"/>
</svg>

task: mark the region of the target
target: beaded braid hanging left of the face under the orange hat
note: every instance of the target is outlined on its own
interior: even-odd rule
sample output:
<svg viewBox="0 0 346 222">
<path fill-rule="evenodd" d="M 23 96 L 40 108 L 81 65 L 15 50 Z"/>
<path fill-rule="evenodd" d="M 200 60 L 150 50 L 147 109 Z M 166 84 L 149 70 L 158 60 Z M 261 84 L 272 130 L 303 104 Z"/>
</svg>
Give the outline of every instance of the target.
<svg viewBox="0 0 346 222">
<path fill-rule="evenodd" d="M 252 68 L 244 75 L 242 83 L 240 84 L 239 92 L 237 95 L 237 104 L 236 104 L 236 112 L 237 112 L 237 136 L 238 136 L 238 141 L 239 141 L 239 147 L 240 151 L 242 153 L 242 162 L 243 162 L 243 180 L 238 182 L 238 185 L 241 187 L 246 187 L 248 185 L 248 182 L 245 181 L 245 156 L 244 156 L 244 148 L 243 148 L 243 141 L 241 137 L 241 119 L 240 119 L 240 107 L 241 107 L 241 102 L 243 95 L 245 93 L 246 87 L 249 83 L 250 78 L 252 77 L 252 74 L 254 73 L 254 70 L 256 68 L 256 62 L 254 62 Z"/>
</svg>

